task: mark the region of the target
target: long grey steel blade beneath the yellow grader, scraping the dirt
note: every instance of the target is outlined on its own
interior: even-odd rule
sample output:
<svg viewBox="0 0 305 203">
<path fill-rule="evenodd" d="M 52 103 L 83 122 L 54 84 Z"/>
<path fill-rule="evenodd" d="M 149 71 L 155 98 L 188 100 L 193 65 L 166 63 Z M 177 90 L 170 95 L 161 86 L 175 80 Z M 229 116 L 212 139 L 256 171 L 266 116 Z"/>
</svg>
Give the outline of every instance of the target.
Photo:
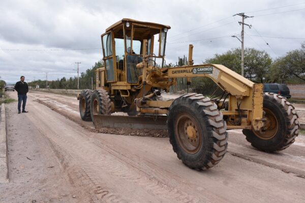
<svg viewBox="0 0 305 203">
<path fill-rule="evenodd" d="M 149 116 L 111 116 L 94 115 L 94 124 L 96 129 L 107 128 L 132 128 L 132 129 L 158 129 L 164 130 L 167 117 L 149 117 Z"/>
</svg>

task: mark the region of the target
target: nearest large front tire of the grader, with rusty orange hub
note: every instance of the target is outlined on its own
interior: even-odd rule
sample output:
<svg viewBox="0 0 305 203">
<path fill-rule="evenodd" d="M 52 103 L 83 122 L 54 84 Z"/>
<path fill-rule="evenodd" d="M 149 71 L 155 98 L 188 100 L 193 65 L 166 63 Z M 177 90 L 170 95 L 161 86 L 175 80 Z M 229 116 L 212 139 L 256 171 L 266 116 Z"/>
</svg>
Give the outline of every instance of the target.
<svg viewBox="0 0 305 203">
<path fill-rule="evenodd" d="M 208 97 L 189 93 L 169 108 L 167 129 L 177 157 L 195 170 L 215 166 L 227 151 L 227 125 Z"/>
</svg>

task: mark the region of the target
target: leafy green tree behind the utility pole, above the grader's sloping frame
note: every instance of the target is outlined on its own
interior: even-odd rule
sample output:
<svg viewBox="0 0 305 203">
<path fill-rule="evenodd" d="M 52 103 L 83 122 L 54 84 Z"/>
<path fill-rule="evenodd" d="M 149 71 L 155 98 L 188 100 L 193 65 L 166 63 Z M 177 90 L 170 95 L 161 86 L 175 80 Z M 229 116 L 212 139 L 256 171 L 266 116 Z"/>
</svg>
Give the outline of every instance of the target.
<svg viewBox="0 0 305 203">
<path fill-rule="evenodd" d="M 207 58 L 205 63 L 222 64 L 240 74 L 241 50 L 235 48 L 225 52 L 224 54 L 215 54 L 213 58 Z M 244 63 L 245 78 L 259 83 L 268 82 L 268 73 L 272 63 L 272 59 L 268 53 L 254 48 L 247 48 L 245 50 Z"/>
</svg>

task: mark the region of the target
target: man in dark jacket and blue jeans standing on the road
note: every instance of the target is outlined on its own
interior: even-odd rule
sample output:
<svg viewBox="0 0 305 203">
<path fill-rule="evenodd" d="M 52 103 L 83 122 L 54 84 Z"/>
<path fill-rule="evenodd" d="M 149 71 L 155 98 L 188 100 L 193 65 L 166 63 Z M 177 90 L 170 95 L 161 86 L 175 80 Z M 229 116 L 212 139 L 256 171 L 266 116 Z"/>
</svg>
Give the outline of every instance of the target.
<svg viewBox="0 0 305 203">
<path fill-rule="evenodd" d="M 24 76 L 20 77 L 20 81 L 16 82 L 15 90 L 18 92 L 18 114 L 21 113 L 21 101 L 22 101 L 22 113 L 27 113 L 25 111 L 25 104 L 26 104 L 26 93 L 28 92 L 27 83 L 24 82 Z"/>
</svg>

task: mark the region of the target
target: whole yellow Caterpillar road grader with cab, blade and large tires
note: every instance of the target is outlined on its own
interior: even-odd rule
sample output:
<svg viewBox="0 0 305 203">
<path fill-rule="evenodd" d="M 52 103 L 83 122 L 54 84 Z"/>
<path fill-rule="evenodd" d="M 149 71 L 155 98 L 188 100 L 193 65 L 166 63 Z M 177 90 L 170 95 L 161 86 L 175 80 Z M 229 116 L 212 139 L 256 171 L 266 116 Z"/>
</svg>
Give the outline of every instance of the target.
<svg viewBox="0 0 305 203">
<path fill-rule="evenodd" d="M 165 66 L 168 25 L 124 18 L 101 36 L 104 67 L 96 89 L 78 96 L 82 120 L 96 128 L 167 129 L 173 151 L 195 170 L 215 166 L 227 150 L 230 129 L 242 129 L 248 142 L 266 152 L 289 147 L 298 136 L 298 115 L 281 95 L 220 64 Z M 187 93 L 163 100 L 177 78 L 208 77 L 223 91 L 217 98 Z M 209 87 L 206 87 L 209 88 Z M 111 115 L 125 112 L 124 115 Z M 126 114 L 127 113 L 127 114 Z"/>
</svg>

